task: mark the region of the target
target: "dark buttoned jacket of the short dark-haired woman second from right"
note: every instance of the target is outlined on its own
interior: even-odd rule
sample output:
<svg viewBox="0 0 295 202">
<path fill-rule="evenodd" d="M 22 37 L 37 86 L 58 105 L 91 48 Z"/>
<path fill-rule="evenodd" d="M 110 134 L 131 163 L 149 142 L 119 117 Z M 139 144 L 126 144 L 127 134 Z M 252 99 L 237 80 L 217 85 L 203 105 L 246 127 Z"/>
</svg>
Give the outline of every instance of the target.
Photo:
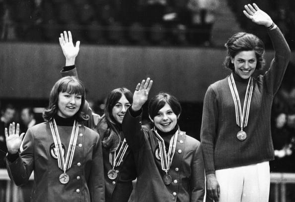
<svg viewBox="0 0 295 202">
<path fill-rule="evenodd" d="M 133 117 L 130 108 L 123 119 L 123 133 L 134 152 L 138 173 L 135 195 L 137 202 L 203 202 L 205 169 L 200 142 L 179 131 L 166 186 L 157 154 L 154 132 L 142 126 L 142 115 Z"/>
</svg>

